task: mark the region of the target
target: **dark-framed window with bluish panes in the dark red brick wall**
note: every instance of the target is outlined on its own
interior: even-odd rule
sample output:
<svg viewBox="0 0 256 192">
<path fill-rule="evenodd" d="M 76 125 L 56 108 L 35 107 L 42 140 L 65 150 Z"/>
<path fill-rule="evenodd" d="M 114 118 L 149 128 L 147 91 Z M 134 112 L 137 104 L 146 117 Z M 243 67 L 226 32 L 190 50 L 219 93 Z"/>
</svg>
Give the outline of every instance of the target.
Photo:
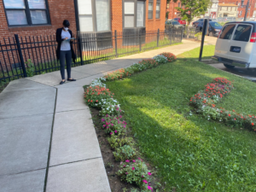
<svg viewBox="0 0 256 192">
<path fill-rule="evenodd" d="M 3 0 L 9 26 L 49 24 L 46 0 Z"/>
</svg>

